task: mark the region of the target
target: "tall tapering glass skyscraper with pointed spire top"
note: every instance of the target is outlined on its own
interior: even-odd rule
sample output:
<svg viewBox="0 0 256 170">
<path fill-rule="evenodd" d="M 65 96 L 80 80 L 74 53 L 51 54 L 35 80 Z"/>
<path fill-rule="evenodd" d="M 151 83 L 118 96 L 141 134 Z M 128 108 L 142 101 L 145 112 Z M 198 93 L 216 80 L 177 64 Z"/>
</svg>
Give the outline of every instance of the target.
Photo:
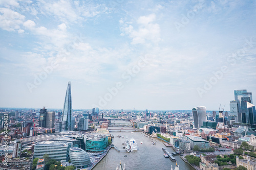
<svg viewBox="0 0 256 170">
<path fill-rule="evenodd" d="M 61 131 L 73 131 L 75 129 L 75 119 L 72 116 L 72 100 L 71 100 L 71 85 L 68 83 L 68 88 L 65 97 L 61 120 Z"/>
</svg>

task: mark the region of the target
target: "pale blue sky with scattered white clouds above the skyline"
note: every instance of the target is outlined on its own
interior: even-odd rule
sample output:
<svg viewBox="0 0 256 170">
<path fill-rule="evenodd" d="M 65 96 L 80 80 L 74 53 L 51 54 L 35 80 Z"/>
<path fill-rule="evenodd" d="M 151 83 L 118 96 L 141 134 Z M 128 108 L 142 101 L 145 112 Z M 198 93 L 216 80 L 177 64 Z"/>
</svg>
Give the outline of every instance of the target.
<svg viewBox="0 0 256 170">
<path fill-rule="evenodd" d="M 255 1 L 0 1 L 0 107 L 229 110 L 256 100 Z"/>
</svg>

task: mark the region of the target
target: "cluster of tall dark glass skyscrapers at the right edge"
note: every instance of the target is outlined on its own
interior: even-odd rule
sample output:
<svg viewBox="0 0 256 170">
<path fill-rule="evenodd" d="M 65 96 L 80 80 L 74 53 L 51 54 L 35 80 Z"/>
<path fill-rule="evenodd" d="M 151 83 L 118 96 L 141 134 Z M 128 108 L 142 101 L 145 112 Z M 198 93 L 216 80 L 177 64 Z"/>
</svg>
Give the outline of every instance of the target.
<svg viewBox="0 0 256 170">
<path fill-rule="evenodd" d="M 230 114 L 236 117 L 237 123 L 256 123 L 256 111 L 252 104 L 251 92 L 234 90 L 234 100 L 230 101 Z"/>
</svg>

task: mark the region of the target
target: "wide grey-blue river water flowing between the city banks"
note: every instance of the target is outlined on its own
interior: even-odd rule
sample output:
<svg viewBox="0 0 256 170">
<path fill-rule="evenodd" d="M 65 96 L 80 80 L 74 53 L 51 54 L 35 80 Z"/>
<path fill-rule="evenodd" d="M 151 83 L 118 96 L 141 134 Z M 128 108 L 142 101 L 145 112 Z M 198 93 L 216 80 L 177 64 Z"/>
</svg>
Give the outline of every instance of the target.
<svg viewBox="0 0 256 170">
<path fill-rule="evenodd" d="M 110 127 L 109 130 L 115 127 Z M 126 129 L 126 128 L 123 128 Z M 102 170 L 102 169 L 116 169 L 117 164 L 120 165 L 120 160 L 122 161 L 122 166 L 125 164 L 126 170 L 133 169 L 157 169 L 164 170 L 170 169 L 173 165 L 173 169 L 176 166 L 176 162 L 171 161 L 169 158 L 163 156 L 162 148 L 167 149 L 170 153 L 175 152 L 172 148 L 167 148 L 163 144 L 162 140 L 158 138 L 151 139 L 142 134 L 142 132 L 111 132 L 115 137 L 113 138 L 113 144 L 123 150 L 122 143 L 126 139 L 126 136 L 130 140 L 132 137 L 136 140 L 138 145 L 138 151 L 135 153 L 127 152 L 118 152 L 112 148 L 109 153 L 93 168 L 93 170 Z M 118 135 L 123 136 L 117 137 Z M 152 144 L 152 141 L 156 142 L 156 145 Z M 141 144 L 142 142 L 142 144 Z M 127 157 L 124 157 L 127 155 Z M 174 156 L 180 166 L 180 170 L 192 170 L 194 169 L 189 164 L 184 162 L 179 155 Z"/>
</svg>

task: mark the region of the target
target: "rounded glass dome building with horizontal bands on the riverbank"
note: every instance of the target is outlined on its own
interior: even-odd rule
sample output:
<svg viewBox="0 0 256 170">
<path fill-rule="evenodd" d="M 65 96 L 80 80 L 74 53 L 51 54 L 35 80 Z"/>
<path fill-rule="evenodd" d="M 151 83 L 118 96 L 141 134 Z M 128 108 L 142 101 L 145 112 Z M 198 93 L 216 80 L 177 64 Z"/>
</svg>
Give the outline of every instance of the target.
<svg viewBox="0 0 256 170">
<path fill-rule="evenodd" d="M 69 156 L 71 163 L 78 168 L 89 167 L 91 165 L 89 155 L 80 148 L 70 148 Z"/>
</svg>

